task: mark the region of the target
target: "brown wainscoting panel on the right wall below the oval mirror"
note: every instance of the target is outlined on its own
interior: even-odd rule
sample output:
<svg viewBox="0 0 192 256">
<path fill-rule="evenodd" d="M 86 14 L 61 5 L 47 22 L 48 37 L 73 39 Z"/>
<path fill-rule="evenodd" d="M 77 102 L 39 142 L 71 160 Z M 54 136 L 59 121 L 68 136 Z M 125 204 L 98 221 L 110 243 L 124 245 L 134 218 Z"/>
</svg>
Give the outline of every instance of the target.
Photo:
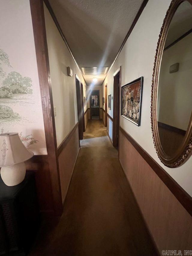
<svg viewBox="0 0 192 256">
<path fill-rule="evenodd" d="M 191 215 L 121 130 L 119 161 L 160 254 L 162 250 L 191 250 Z"/>
</svg>

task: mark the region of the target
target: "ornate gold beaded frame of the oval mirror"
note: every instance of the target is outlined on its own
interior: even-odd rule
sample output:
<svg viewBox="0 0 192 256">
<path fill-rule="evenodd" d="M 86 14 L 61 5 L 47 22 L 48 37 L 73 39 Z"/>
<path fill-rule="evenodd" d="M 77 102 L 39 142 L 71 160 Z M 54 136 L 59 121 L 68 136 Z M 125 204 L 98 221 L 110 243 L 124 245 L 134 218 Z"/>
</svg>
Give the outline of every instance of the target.
<svg viewBox="0 0 192 256">
<path fill-rule="evenodd" d="M 184 136 L 183 142 L 179 149 L 176 151 L 174 157 L 170 157 L 165 154 L 158 132 L 158 124 L 157 124 L 157 92 L 158 92 L 158 78 L 159 71 L 161 68 L 161 58 L 163 55 L 164 44 L 167 36 L 167 31 L 170 25 L 170 22 L 175 14 L 179 5 L 188 1 L 192 5 L 192 0 L 172 0 L 170 7 L 167 11 L 167 14 L 164 18 L 163 25 L 161 27 L 161 32 L 159 35 L 159 40 L 157 44 L 156 54 L 155 54 L 155 62 L 153 68 L 153 79 L 152 79 L 152 93 L 151 93 L 151 127 L 152 127 L 152 135 L 153 142 L 155 145 L 156 152 L 161 162 L 170 168 L 175 168 L 183 164 L 192 153 L 192 113 L 190 116 L 189 125 L 187 127 L 186 134 Z"/>
</svg>

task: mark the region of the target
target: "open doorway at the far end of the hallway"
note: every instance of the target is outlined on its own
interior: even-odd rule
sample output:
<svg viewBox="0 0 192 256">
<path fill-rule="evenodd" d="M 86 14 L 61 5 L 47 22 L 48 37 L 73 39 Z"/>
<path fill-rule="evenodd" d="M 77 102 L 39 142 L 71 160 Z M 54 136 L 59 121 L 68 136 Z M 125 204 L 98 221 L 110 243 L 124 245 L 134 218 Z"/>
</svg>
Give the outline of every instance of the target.
<svg viewBox="0 0 192 256">
<path fill-rule="evenodd" d="M 99 90 L 93 90 L 91 92 L 90 97 L 90 116 L 91 119 L 99 120 L 100 119 L 100 97 L 99 97 Z"/>
</svg>

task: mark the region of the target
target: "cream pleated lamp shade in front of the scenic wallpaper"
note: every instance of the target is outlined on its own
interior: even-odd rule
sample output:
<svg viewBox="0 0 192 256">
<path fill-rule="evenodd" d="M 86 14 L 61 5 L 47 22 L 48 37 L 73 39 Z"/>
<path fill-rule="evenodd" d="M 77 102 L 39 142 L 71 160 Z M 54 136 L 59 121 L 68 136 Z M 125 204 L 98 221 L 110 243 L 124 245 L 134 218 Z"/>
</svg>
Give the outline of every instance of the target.
<svg viewBox="0 0 192 256">
<path fill-rule="evenodd" d="M 0 134 L 0 167 L 19 164 L 33 155 L 33 152 L 24 146 L 18 133 Z"/>
</svg>

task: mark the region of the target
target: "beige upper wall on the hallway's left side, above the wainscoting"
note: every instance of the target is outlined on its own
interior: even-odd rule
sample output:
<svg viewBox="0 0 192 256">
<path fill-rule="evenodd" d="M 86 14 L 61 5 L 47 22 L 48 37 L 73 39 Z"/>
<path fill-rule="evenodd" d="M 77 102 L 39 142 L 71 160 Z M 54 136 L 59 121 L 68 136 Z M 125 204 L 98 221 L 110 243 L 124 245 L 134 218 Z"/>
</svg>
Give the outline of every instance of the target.
<svg viewBox="0 0 192 256">
<path fill-rule="evenodd" d="M 53 104 L 56 107 L 55 128 L 57 146 L 59 146 L 78 122 L 75 74 L 77 74 L 83 84 L 84 93 L 86 85 L 45 5 L 44 14 Z M 68 66 L 73 70 L 72 77 L 67 76 Z"/>
</svg>

